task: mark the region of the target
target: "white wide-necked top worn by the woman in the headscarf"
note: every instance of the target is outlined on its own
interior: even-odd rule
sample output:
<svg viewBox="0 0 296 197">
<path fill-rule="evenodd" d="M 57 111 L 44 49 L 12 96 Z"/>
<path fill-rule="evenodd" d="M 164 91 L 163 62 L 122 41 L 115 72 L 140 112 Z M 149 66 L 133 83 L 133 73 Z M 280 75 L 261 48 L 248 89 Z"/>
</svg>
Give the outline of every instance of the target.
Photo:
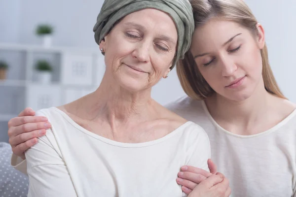
<svg viewBox="0 0 296 197">
<path fill-rule="evenodd" d="M 153 141 L 121 143 L 85 130 L 56 107 L 36 115 L 52 129 L 26 152 L 28 197 L 182 197 L 181 166 L 209 171 L 209 138 L 192 122 Z"/>
</svg>

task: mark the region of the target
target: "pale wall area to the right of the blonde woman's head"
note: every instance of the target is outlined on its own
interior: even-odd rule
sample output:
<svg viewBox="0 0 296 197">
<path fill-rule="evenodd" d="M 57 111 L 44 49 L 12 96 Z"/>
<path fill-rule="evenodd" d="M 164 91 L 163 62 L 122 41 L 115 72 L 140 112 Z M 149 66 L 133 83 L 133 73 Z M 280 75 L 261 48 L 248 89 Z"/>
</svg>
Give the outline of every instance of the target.
<svg viewBox="0 0 296 197">
<path fill-rule="evenodd" d="M 282 92 L 296 102 L 296 1 L 245 1 L 265 29 L 269 62 Z"/>
</svg>

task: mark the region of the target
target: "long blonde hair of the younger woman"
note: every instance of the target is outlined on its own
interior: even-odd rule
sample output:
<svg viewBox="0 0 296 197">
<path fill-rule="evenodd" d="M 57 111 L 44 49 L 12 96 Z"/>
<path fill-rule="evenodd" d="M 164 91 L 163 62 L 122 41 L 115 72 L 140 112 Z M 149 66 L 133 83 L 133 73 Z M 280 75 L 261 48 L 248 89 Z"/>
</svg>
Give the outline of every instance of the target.
<svg viewBox="0 0 296 197">
<path fill-rule="evenodd" d="M 257 20 L 243 0 L 191 0 L 195 29 L 208 20 L 219 17 L 240 24 L 258 35 Z M 260 50 L 262 57 L 262 77 L 265 90 L 277 97 L 286 99 L 278 87 L 268 62 L 266 43 Z M 192 99 L 206 99 L 215 91 L 203 78 L 190 51 L 177 62 L 177 74 L 185 93 Z"/>
</svg>

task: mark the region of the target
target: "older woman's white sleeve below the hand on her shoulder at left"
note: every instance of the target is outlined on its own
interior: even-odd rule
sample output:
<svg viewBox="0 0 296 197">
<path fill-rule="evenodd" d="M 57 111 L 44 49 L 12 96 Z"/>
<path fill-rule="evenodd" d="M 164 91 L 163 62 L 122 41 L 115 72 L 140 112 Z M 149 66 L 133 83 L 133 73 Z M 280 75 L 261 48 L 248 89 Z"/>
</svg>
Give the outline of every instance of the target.
<svg viewBox="0 0 296 197">
<path fill-rule="evenodd" d="M 28 197 L 76 197 L 67 165 L 51 129 L 26 153 Z"/>
</svg>

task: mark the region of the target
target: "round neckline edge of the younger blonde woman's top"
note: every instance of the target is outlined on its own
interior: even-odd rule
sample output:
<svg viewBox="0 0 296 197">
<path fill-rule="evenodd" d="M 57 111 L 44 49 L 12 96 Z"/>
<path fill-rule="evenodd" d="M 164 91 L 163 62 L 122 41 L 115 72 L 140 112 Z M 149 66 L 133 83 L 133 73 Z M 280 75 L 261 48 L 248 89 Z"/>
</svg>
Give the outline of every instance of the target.
<svg viewBox="0 0 296 197">
<path fill-rule="evenodd" d="M 296 115 L 296 109 L 290 113 L 286 118 L 284 118 L 281 122 L 279 122 L 278 124 L 276 124 L 275 126 L 273 126 L 272 128 L 266 130 L 266 131 L 262 131 L 262 132 L 259 132 L 257 134 L 252 134 L 252 135 L 240 135 L 240 134 L 235 134 L 235 133 L 232 133 L 230 131 L 227 131 L 225 130 L 224 128 L 222 128 L 216 121 L 215 119 L 212 117 L 212 115 L 210 114 L 209 110 L 208 110 L 208 107 L 205 103 L 204 100 L 201 100 L 201 105 L 202 105 L 202 108 L 204 109 L 207 117 L 211 120 L 211 122 L 217 127 L 219 128 L 221 131 L 223 131 L 224 133 L 228 134 L 228 135 L 232 135 L 232 136 L 235 136 L 235 137 L 240 137 L 240 138 L 252 138 L 252 137 L 259 137 L 259 136 L 262 136 L 262 135 L 266 135 L 266 134 L 269 134 L 273 131 L 277 131 L 277 129 L 279 129 L 280 127 L 284 126 L 288 121 L 290 121 L 295 115 Z"/>
</svg>

